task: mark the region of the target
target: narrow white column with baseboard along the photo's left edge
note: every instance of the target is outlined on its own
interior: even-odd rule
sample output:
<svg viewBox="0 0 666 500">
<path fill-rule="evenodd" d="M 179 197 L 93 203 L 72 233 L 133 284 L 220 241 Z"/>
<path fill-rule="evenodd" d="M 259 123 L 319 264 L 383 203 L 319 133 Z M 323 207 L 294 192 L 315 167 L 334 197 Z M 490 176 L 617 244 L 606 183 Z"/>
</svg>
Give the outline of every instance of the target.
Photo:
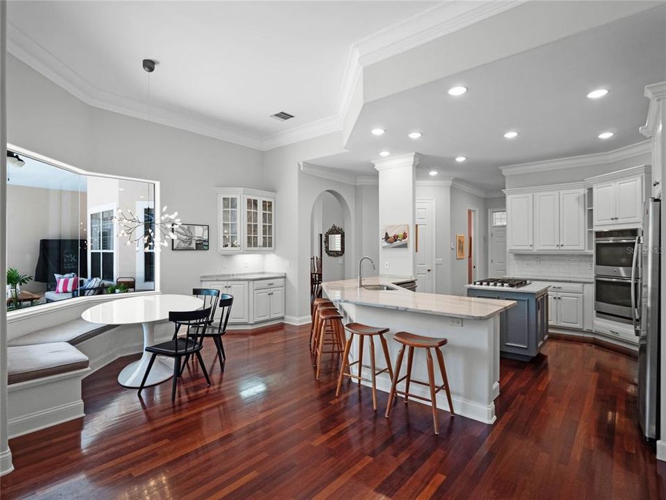
<svg viewBox="0 0 666 500">
<path fill-rule="evenodd" d="M 7 285 L 7 2 L 0 1 L 0 290 Z M 0 307 L 0 476 L 12 472 L 12 451 L 7 433 L 7 307 Z"/>
</svg>

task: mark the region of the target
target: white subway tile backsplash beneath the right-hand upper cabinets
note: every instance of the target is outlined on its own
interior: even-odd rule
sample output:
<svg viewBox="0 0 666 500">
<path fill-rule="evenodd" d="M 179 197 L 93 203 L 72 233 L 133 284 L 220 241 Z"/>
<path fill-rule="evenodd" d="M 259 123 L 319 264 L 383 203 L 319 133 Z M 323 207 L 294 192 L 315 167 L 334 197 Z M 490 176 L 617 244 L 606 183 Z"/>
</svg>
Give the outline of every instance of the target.
<svg viewBox="0 0 666 500">
<path fill-rule="evenodd" d="M 525 255 L 509 253 L 509 274 L 529 278 L 594 278 L 591 255 Z"/>
</svg>

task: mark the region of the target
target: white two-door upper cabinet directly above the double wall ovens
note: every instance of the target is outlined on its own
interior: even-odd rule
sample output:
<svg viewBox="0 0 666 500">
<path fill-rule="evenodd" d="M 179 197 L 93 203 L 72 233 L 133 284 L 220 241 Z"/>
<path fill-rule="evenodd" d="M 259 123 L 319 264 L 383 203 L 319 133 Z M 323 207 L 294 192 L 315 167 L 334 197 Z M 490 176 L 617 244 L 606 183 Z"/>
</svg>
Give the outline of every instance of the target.
<svg viewBox="0 0 666 500">
<path fill-rule="evenodd" d="M 636 169 L 629 170 L 635 172 Z M 594 182 L 592 197 L 595 226 L 640 224 L 645 190 L 644 174 Z"/>
</svg>

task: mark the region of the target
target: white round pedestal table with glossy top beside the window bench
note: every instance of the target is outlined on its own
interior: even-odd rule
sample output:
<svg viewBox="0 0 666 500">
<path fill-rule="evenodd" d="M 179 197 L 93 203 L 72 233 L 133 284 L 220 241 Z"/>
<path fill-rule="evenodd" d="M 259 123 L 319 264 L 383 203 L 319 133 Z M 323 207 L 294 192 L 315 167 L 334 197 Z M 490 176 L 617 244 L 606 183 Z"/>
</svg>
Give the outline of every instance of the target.
<svg viewBox="0 0 666 500">
<path fill-rule="evenodd" d="M 155 322 L 169 319 L 169 311 L 191 311 L 202 306 L 203 301 L 191 295 L 144 295 L 92 306 L 83 311 L 81 317 L 91 323 L 141 324 L 144 330 L 143 355 L 140 360 L 124 367 L 118 375 L 118 383 L 123 387 L 138 388 L 151 360 L 151 354 L 145 349 L 155 344 Z M 169 380 L 171 376 L 173 376 L 173 359 L 157 356 L 146 380 L 146 387 Z"/>
</svg>

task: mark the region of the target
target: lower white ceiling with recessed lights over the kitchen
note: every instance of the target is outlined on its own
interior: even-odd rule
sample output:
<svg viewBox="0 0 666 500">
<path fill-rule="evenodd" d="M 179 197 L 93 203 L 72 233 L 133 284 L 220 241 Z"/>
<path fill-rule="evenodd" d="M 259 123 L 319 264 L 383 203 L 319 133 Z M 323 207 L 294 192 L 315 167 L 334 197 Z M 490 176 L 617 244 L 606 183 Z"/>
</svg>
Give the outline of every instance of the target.
<svg viewBox="0 0 666 500">
<path fill-rule="evenodd" d="M 379 151 L 417 151 L 417 176 L 437 169 L 493 191 L 497 167 L 610 151 L 645 140 L 644 85 L 666 80 L 666 6 L 483 65 L 441 81 L 366 103 L 347 144 L 349 153 L 309 163 L 342 174 L 374 175 Z M 446 90 L 469 88 L 461 97 Z M 586 98 L 608 88 L 599 100 Z M 375 137 L 370 130 L 386 129 Z M 504 132 L 520 136 L 506 140 Z M 421 131 L 411 140 L 407 133 Z M 597 135 L 613 131 L 610 140 Z M 456 156 L 466 156 L 456 163 Z"/>
</svg>

